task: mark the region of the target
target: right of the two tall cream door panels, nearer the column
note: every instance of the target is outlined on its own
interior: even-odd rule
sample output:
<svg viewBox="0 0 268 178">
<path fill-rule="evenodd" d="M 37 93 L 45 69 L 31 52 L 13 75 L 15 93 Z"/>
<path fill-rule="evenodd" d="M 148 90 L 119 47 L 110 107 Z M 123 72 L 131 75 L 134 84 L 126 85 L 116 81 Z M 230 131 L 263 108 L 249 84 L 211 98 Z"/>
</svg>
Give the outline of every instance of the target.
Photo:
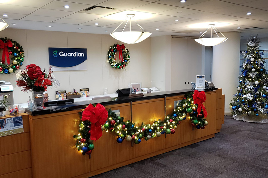
<svg viewBox="0 0 268 178">
<path fill-rule="evenodd" d="M 191 82 L 196 82 L 196 76 L 202 74 L 202 47 L 194 39 L 187 39 L 187 88 L 191 88 Z"/>
</svg>

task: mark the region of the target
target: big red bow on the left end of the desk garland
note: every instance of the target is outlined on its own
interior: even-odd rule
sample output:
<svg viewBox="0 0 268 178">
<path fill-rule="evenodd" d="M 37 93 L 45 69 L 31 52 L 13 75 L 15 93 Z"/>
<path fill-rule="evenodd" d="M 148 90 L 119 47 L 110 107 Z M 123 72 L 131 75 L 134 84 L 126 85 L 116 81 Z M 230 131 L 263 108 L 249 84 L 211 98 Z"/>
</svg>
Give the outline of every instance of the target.
<svg viewBox="0 0 268 178">
<path fill-rule="evenodd" d="M 82 119 L 83 121 L 88 120 L 91 122 L 90 126 L 90 139 L 97 140 L 102 136 L 102 125 L 105 124 L 108 118 L 108 112 L 104 106 L 97 104 L 94 107 L 89 104 L 88 107 L 83 111 Z"/>
</svg>

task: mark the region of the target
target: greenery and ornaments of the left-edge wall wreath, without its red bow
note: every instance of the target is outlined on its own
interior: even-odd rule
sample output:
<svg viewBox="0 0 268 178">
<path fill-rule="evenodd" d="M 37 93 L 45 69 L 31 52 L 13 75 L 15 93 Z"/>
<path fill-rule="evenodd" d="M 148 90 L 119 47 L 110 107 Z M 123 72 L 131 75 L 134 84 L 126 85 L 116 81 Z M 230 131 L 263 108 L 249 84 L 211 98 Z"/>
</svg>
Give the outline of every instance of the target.
<svg viewBox="0 0 268 178">
<path fill-rule="evenodd" d="M 4 43 L 6 43 L 7 40 L 10 40 L 13 44 L 12 47 L 7 47 L 9 53 L 7 55 L 12 55 L 12 58 L 10 60 L 12 62 L 7 66 L 0 60 L 0 74 L 15 73 L 15 71 L 22 66 L 22 62 L 24 61 L 24 50 L 18 42 L 13 41 L 12 39 L 5 37 L 0 38 L 0 40 L 2 40 Z M 0 55 L 0 58 L 2 58 L 2 55 Z"/>
</svg>

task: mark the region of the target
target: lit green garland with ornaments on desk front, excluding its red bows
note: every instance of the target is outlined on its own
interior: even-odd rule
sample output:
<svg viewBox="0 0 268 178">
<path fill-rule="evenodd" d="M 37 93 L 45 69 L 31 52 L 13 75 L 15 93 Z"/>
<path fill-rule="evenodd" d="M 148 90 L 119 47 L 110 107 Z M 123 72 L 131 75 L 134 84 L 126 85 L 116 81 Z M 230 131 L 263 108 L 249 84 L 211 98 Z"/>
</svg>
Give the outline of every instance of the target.
<svg viewBox="0 0 268 178">
<path fill-rule="evenodd" d="M 82 113 L 81 113 L 82 117 Z M 141 139 L 149 140 L 154 137 L 159 137 L 161 134 L 174 134 L 177 125 L 180 125 L 182 120 L 191 119 L 192 126 L 197 129 L 204 129 L 208 122 L 204 119 L 203 112 L 197 116 L 197 104 L 194 104 L 193 93 L 187 93 L 185 98 L 173 110 L 173 114 L 168 115 L 163 121 L 156 120 L 153 124 L 141 123 L 141 126 L 135 126 L 130 120 L 124 121 L 123 117 L 119 117 L 111 109 L 108 111 L 107 122 L 102 126 L 102 131 L 113 132 L 118 136 L 117 142 L 122 143 L 124 139 L 139 144 Z M 79 124 L 79 134 L 74 135 L 76 139 L 75 146 L 83 155 L 91 154 L 94 149 L 93 141 L 90 140 L 89 121 L 81 121 Z"/>
</svg>

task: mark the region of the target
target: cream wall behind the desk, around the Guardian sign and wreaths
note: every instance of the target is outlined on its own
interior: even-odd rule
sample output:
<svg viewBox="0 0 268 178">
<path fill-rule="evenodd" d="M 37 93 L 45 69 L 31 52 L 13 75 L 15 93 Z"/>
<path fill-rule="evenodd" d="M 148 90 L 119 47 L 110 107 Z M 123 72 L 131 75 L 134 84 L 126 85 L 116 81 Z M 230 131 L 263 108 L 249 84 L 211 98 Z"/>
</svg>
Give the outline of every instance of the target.
<svg viewBox="0 0 268 178">
<path fill-rule="evenodd" d="M 53 72 L 60 87 L 48 88 L 52 100 L 55 99 L 55 90 L 72 92 L 73 88 L 77 91 L 80 88 L 89 88 L 91 95 L 101 95 L 105 87 L 108 93 L 114 93 L 118 88 L 126 88 L 129 83 L 134 82 L 142 82 L 143 87 L 151 86 L 150 38 L 138 44 L 125 44 L 130 52 L 130 63 L 126 70 L 116 70 L 107 62 L 108 49 L 118 42 L 110 35 L 7 28 L 0 32 L 0 36 L 12 38 L 23 46 L 25 58 L 22 68 L 35 63 L 41 69 L 49 69 L 48 47 L 87 48 L 86 71 Z M 15 74 L 0 74 L 0 80 L 13 84 L 15 103 L 25 103 L 30 93 L 23 93 L 15 85 Z"/>
</svg>

